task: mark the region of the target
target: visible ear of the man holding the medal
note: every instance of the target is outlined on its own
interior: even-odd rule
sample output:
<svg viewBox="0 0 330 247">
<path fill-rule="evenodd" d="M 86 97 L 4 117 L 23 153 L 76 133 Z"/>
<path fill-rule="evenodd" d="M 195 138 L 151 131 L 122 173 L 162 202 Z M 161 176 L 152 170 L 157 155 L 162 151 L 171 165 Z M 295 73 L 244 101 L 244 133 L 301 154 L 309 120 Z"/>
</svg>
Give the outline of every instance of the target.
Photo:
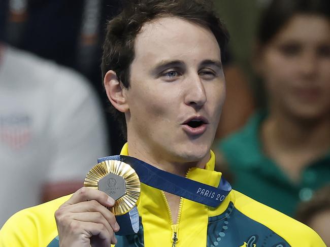
<svg viewBox="0 0 330 247">
<path fill-rule="evenodd" d="M 117 75 L 113 70 L 109 70 L 104 77 L 104 87 L 111 104 L 122 113 L 129 110 L 126 95 Z"/>
</svg>

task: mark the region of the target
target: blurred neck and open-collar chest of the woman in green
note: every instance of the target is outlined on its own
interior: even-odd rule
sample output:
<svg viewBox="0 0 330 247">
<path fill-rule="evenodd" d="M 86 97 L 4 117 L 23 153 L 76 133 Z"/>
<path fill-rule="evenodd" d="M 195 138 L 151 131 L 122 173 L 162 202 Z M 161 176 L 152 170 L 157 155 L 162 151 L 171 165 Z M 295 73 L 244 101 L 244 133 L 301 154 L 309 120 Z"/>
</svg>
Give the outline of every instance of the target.
<svg viewBox="0 0 330 247">
<path fill-rule="evenodd" d="M 301 172 L 330 149 L 330 121 L 327 117 L 314 123 L 272 112 L 262 124 L 263 151 L 298 183 Z"/>
</svg>

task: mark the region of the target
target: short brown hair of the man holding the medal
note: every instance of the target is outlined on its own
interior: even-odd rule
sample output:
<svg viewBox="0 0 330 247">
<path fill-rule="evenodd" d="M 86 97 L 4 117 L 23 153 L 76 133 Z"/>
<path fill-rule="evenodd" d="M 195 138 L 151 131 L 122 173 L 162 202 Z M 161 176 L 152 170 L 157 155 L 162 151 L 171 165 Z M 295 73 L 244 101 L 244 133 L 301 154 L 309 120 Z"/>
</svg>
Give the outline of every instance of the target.
<svg viewBox="0 0 330 247">
<path fill-rule="evenodd" d="M 208 28 L 214 34 L 224 57 L 229 35 L 223 23 L 213 11 L 212 0 L 131 0 L 125 1 L 122 12 L 107 24 L 103 45 L 102 77 L 111 69 L 125 88 L 129 88 L 129 68 L 134 60 L 135 38 L 143 24 L 164 16 L 180 17 Z M 127 129 L 124 113 L 113 105 L 110 111 L 122 127 Z"/>
</svg>

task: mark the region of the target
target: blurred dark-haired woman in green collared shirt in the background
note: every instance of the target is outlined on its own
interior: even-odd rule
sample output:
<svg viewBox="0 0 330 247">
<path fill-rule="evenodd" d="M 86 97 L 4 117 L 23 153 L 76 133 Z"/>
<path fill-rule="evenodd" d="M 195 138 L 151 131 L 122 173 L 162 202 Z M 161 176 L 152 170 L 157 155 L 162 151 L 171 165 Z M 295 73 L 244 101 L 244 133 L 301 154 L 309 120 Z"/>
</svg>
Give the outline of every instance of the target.
<svg viewBox="0 0 330 247">
<path fill-rule="evenodd" d="M 290 216 L 330 181 L 329 10 L 325 0 L 270 4 L 254 54 L 267 110 L 218 145 L 235 189 Z"/>
</svg>

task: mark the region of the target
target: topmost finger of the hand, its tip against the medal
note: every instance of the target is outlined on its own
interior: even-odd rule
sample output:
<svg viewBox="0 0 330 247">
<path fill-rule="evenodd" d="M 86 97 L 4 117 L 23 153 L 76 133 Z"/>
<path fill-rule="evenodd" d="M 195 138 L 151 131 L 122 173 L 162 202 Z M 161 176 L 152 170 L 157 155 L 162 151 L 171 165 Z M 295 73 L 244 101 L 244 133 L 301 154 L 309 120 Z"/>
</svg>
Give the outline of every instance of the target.
<svg viewBox="0 0 330 247">
<path fill-rule="evenodd" d="M 100 190 L 83 187 L 77 190 L 72 197 L 66 201 L 62 206 L 72 205 L 83 201 L 96 200 L 104 206 L 112 207 L 115 200 Z"/>
</svg>

